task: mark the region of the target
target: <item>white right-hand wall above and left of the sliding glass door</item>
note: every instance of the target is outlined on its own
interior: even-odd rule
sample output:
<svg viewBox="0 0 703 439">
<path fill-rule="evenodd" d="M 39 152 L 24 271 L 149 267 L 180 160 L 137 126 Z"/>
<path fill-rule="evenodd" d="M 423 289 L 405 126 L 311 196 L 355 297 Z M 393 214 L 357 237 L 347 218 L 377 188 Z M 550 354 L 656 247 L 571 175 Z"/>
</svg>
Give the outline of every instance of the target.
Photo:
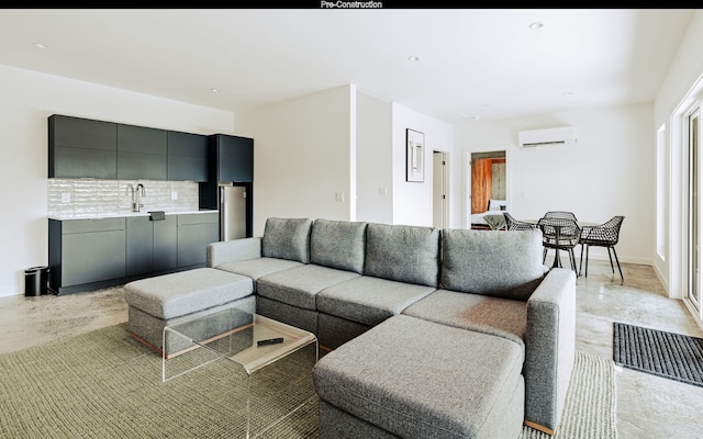
<svg viewBox="0 0 703 439">
<path fill-rule="evenodd" d="M 701 41 L 703 41 L 703 11 L 696 10 L 693 14 L 689 29 L 679 52 L 674 57 L 667 77 L 665 78 L 657 99 L 655 100 L 654 126 L 659 128 L 665 126 L 667 132 L 663 136 L 667 154 L 670 179 L 668 182 L 668 199 L 663 204 L 668 207 L 667 221 L 665 224 L 666 255 L 660 258 L 652 247 L 654 267 L 661 278 L 671 297 L 685 296 L 685 270 L 684 252 L 685 246 L 685 151 L 679 142 L 682 137 L 681 125 L 672 114 L 683 102 L 687 94 L 703 80 L 703 57 L 701 57 Z M 700 82 L 699 82 L 700 83 Z M 656 169 L 652 168 L 654 173 Z M 655 230 L 652 229 L 652 234 Z"/>
</svg>

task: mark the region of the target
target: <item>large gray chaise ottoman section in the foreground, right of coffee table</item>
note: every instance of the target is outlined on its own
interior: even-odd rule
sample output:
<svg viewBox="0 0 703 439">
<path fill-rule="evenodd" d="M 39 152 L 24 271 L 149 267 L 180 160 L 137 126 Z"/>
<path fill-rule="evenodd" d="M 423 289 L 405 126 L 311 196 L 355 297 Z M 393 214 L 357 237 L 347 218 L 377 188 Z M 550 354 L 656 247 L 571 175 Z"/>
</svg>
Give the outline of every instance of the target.
<svg viewBox="0 0 703 439">
<path fill-rule="evenodd" d="M 390 317 L 314 367 L 320 437 L 517 438 L 522 365 L 505 338 Z"/>
</svg>

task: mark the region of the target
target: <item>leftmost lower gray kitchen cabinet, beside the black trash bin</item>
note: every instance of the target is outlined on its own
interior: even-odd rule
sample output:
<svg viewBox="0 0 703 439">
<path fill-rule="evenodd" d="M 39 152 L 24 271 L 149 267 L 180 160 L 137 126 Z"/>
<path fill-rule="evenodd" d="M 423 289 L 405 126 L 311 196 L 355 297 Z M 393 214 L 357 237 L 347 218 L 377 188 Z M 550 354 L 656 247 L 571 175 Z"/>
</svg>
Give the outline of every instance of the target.
<svg viewBox="0 0 703 439">
<path fill-rule="evenodd" d="M 49 278 L 57 294 L 126 274 L 125 218 L 49 219 Z M 85 291 L 85 290 L 82 290 Z"/>
</svg>

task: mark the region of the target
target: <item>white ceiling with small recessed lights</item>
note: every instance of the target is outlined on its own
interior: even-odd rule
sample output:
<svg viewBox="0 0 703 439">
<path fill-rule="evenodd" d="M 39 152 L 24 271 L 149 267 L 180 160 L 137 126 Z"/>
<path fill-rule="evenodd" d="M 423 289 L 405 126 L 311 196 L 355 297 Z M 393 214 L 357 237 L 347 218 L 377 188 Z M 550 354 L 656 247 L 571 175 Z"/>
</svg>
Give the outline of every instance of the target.
<svg viewBox="0 0 703 439">
<path fill-rule="evenodd" d="M 0 64 L 233 112 L 352 83 L 499 120 L 654 101 L 693 12 L 4 9 Z"/>
</svg>

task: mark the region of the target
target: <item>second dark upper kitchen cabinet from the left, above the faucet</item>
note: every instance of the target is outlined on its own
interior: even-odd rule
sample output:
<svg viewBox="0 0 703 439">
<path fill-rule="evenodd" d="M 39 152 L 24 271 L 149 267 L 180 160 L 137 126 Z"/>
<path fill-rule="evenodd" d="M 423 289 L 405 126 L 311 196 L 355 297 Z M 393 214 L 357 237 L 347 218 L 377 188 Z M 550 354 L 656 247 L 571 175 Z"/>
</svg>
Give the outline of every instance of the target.
<svg viewBox="0 0 703 439">
<path fill-rule="evenodd" d="M 166 180 L 166 130 L 118 124 L 118 179 Z"/>
</svg>

